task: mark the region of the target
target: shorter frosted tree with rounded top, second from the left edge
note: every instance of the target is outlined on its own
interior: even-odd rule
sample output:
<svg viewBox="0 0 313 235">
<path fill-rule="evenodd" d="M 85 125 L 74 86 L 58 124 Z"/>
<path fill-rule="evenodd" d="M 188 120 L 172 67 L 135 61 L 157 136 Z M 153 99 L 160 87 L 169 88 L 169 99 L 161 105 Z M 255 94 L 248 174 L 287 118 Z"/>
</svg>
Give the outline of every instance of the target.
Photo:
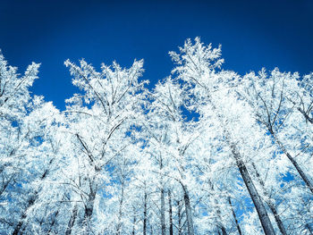
<svg viewBox="0 0 313 235">
<path fill-rule="evenodd" d="M 56 131 L 62 117 L 51 103 L 45 103 L 40 97 L 35 97 L 31 105 L 34 110 L 24 118 L 21 125 L 24 131 L 29 132 L 29 145 L 25 154 L 28 156 L 28 162 L 24 163 L 25 169 L 28 170 L 28 180 L 22 179 L 23 188 L 27 189 L 27 193 L 24 192 L 26 203 L 21 206 L 21 218 L 14 226 L 13 234 L 19 234 L 21 229 L 28 231 L 26 223 L 30 219 L 34 220 L 35 214 L 39 218 L 43 215 L 37 211 L 38 207 L 46 206 L 40 197 L 47 197 L 47 191 L 50 190 L 47 181 L 51 180 L 51 174 L 60 166 L 60 139 L 57 140 Z M 54 210 L 55 208 L 51 213 L 54 213 Z M 35 225 L 35 222 L 30 223 L 31 226 Z"/>
</svg>

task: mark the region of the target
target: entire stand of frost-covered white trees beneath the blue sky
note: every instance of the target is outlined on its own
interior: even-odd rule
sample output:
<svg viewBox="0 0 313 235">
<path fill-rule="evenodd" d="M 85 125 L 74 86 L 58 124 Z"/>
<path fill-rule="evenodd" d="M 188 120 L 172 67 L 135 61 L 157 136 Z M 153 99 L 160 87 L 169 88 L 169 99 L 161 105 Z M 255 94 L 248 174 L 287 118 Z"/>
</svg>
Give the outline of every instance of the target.
<svg viewBox="0 0 313 235">
<path fill-rule="evenodd" d="M 151 90 L 142 61 L 66 61 L 63 112 L 0 55 L 1 234 L 313 234 L 313 73 L 170 55 Z"/>
</svg>

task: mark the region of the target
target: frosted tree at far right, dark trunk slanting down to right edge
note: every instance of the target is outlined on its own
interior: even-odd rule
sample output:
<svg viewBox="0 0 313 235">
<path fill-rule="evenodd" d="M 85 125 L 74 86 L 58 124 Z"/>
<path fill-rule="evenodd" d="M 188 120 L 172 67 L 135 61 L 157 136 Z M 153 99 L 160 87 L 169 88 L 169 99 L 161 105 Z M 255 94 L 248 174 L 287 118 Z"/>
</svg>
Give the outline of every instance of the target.
<svg viewBox="0 0 313 235">
<path fill-rule="evenodd" d="M 271 134 L 276 145 L 288 157 L 313 193 L 313 184 L 308 173 L 302 169 L 303 167 L 297 160 L 299 158 L 292 156 L 292 153 L 305 155 L 301 152 L 305 152 L 311 143 L 305 133 L 308 129 L 306 123 L 300 122 L 300 113 L 303 114 L 303 112 L 295 112 L 295 105 L 290 102 L 290 99 L 295 99 L 293 98 L 295 94 L 300 94 L 299 74 L 284 73 L 275 69 L 268 78 L 266 71 L 263 70 L 258 75 L 252 72 L 246 75 L 245 79 L 249 80 L 247 97 L 254 108 L 258 122 L 262 123 Z"/>
</svg>

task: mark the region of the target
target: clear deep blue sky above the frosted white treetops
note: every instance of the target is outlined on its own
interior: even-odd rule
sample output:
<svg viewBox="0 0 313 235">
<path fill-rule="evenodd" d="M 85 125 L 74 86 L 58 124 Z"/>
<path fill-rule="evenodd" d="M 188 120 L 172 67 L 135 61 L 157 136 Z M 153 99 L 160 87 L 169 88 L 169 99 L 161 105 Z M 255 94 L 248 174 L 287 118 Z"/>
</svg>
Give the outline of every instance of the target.
<svg viewBox="0 0 313 235">
<path fill-rule="evenodd" d="M 224 69 L 313 71 L 313 1 L 0 0 L 0 48 L 22 72 L 42 63 L 33 92 L 63 109 L 76 91 L 63 65 L 85 58 L 99 69 L 145 59 L 153 85 L 170 74 L 168 51 L 199 36 L 222 44 Z"/>
</svg>

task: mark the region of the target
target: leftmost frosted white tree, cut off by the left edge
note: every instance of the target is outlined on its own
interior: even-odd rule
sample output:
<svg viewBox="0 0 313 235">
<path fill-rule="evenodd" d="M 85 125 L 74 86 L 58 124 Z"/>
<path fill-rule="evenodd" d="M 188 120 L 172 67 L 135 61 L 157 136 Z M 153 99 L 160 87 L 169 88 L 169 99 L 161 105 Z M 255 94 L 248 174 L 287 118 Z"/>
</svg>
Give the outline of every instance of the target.
<svg viewBox="0 0 313 235">
<path fill-rule="evenodd" d="M 38 78 L 38 67 L 39 64 L 32 63 L 20 77 L 17 68 L 8 66 L 4 56 L 0 55 L 0 208 L 1 226 L 7 231 L 9 231 L 8 227 L 14 226 L 15 216 L 18 217 L 21 213 L 18 204 L 24 203 L 19 195 L 24 189 L 21 183 L 26 180 L 24 177 L 29 172 L 21 166 L 30 162 L 31 154 L 25 154 L 30 152 L 28 147 L 32 133 L 28 128 L 24 128 L 23 119 L 29 113 L 29 88 Z M 16 208 L 13 212 L 10 212 L 12 210 L 10 207 L 13 205 L 11 201 Z M 7 216 L 8 213 L 11 213 L 11 216 Z"/>
</svg>

